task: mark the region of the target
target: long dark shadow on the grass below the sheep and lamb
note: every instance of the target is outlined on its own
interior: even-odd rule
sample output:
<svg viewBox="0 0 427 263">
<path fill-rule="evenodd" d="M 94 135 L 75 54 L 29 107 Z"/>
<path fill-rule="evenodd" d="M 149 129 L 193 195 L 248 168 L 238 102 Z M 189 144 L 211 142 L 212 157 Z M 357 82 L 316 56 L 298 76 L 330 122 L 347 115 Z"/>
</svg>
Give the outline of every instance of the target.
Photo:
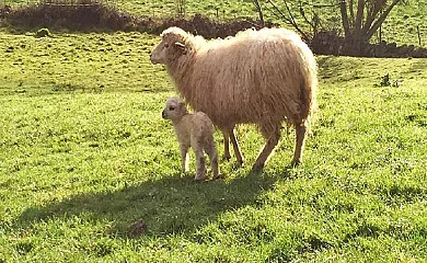
<svg viewBox="0 0 427 263">
<path fill-rule="evenodd" d="M 289 176 L 288 170 L 281 174 L 249 173 L 233 180 L 206 182 L 194 182 L 180 174 L 164 175 L 158 181 L 116 192 L 79 194 L 27 208 L 15 227 L 25 229 L 42 221 L 77 216 L 112 222 L 106 231 L 123 238 L 188 233 L 208 221 L 216 221 L 221 213 L 256 206 L 259 196 L 284 176 Z"/>
</svg>

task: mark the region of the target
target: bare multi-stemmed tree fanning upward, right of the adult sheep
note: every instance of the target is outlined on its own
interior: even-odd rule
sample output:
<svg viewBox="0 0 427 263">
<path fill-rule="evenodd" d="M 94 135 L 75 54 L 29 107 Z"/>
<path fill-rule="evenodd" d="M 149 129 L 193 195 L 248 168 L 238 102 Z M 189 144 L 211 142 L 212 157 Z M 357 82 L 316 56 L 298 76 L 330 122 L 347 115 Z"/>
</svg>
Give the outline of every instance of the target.
<svg viewBox="0 0 427 263">
<path fill-rule="evenodd" d="M 360 55 L 362 47 L 402 0 L 339 0 L 345 41 L 343 53 Z"/>
</svg>

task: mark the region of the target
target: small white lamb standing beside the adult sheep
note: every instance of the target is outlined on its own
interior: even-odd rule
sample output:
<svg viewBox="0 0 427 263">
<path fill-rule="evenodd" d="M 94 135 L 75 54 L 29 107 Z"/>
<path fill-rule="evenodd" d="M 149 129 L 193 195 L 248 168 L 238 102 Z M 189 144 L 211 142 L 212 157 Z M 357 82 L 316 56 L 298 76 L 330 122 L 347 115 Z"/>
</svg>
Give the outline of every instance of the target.
<svg viewBox="0 0 427 263">
<path fill-rule="evenodd" d="M 162 112 L 162 117 L 171 119 L 175 128 L 181 149 L 181 165 L 183 171 L 188 169 L 188 148 L 196 155 L 196 175 L 194 180 L 207 178 L 204 151 L 209 156 L 214 179 L 219 178 L 218 152 L 214 140 L 214 125 L 203 112 L 189 114 L 185 103 L 180 98 L 169 98 Z"/>
</svg>

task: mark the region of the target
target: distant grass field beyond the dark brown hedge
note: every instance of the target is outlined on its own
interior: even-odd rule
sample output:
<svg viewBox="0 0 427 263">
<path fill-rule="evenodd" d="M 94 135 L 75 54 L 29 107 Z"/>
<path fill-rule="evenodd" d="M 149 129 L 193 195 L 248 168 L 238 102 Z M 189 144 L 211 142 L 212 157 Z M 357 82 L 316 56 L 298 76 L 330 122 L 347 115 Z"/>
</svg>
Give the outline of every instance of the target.
<svg viewBox="0 0 427 263">
<path fill-rule="evenodd" d="M 1 3 L 12 5 L 25 5 L 27 3 L 37 2 L 36 0 L 4 0 Z M 171 18 L 176 14 L 176 1 L 159 1 L 159 0 L 109 0 L 106 1 L 120 10 L 130 12 L 136 15 L 148 15 L 153 18 Z M 262 1 L 261 1 L 262 2 Z M 279 9 L 286 13 L 286 8 L 282 1 L 273 1 Z M 335 0 L 316 0 L 312 1 L 320 5 L 330 5 L 336 3 Z M 388 20 L 382 26 L 382 39 L 386 42 L 395 42 L 400 45 L 419 46 L 417 26 L 420 31 L 422 46 L 427 46 L 427 0 L 406 1 L 393 9 Z M 292 4 L 292 1 L 290 1 Z M 278 18 L 272 4 L 264 3 L 264 13 L 267 21 L 273 21 L 286 25 Z M 257 13 L 250 0 L 206 0 L 206 1 L 186 1 L 185 10 L 187 15 L 201 13 L 215 20 L 230 20 L 240 16 L 249 16 L 257 19 Z M 293 7 L 293 15 L 297 16 L 297 22 L 304 27 L 302 18 L 299 18 L 298 7 Z M 339 8 L 316 8 L 310 10 L 305 8 L 307 15 L 310 18 L 312 12 L 315 12 L 323 19 L 322 25 L 328 30 L 343 31 L 341 27 Z M 217 16 L 218 15 L 218 16 Z M 289 26 L 289 25 L 286 25 Z M 378 42 L 379 37 L 374 36 L 373 42 Z"/>
</svg>

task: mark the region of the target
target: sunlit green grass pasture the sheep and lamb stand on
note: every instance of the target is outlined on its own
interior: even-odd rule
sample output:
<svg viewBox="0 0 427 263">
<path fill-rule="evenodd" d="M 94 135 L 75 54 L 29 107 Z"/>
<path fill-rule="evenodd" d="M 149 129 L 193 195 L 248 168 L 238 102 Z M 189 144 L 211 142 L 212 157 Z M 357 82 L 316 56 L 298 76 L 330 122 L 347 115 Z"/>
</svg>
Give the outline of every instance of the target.
<svg viewBox="0 0 427 263">
<path fill-rule="evenodd" d="M 284 133 L 250 173 L 241 126 L 247 165 L 195 183 L 157 41 L 0 33 L 0 262 L 427 262 L 426 59 L 319 57 L 304 164 Z"/>
</svg>

